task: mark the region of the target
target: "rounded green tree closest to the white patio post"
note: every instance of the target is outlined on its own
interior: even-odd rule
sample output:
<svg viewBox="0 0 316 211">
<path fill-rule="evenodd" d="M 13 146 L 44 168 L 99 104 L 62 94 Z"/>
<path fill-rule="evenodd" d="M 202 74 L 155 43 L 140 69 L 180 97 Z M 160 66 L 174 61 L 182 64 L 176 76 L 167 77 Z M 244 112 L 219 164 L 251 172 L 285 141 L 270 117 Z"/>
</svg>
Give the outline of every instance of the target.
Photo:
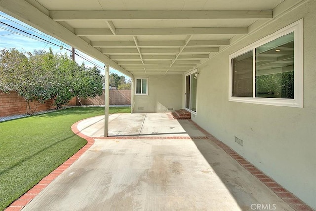
<svg viewBox="0 0 316 211">
<path fill-rule="evenodd" d="M 86 68 L 81 66 L 82 70 L 78 71 L 75 76 L 73 93 L 82 106 L 81 98 L 95 97 L 102 95 L 103 77 L 101 71 L 97 67 Z M 83 68 L 84 67 L 84 68 Z"/>
</svg>

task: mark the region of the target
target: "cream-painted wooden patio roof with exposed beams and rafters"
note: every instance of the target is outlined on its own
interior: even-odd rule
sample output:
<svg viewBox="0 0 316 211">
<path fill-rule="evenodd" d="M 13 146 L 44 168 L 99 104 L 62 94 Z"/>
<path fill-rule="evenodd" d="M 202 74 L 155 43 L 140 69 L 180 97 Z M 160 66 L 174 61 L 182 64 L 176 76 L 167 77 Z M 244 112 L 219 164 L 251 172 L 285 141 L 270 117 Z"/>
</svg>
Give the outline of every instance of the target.
<svg viewBox="0 0 316 211">
<path fill-rule="evenodd" d="M 183 74 L 300 0 L 1 0 L 1 11 L 128 75 Z"/>
</svg>

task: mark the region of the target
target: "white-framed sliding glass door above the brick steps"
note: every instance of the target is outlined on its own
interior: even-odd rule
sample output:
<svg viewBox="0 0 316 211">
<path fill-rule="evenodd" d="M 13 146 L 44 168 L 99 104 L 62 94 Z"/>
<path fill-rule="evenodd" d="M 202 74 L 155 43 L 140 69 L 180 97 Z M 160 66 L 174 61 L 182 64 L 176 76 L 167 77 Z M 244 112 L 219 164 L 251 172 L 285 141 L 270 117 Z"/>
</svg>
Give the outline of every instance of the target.
<svg viewBox="0 0 316 211">
<path fill-rule="evenodd" d="M 185 109 L 197 114 L 197 69 L 185 75 Z"/>
</svg>

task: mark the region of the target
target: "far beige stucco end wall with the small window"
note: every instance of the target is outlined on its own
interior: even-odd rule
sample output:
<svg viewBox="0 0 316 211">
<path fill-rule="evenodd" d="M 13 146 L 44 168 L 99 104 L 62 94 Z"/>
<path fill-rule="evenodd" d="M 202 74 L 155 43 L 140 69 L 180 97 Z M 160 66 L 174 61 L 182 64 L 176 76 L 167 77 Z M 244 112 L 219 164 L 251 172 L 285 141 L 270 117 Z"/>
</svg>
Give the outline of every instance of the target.
<svg viewBox="0 0 316 211">
<path fill-rule="evenodd" d="M 182 107 L 182 75 L 135 75 L 135 77 L 148 78 L 148 95 L 134 96 L 134 113 L 168 112 Z"/>
</svg>

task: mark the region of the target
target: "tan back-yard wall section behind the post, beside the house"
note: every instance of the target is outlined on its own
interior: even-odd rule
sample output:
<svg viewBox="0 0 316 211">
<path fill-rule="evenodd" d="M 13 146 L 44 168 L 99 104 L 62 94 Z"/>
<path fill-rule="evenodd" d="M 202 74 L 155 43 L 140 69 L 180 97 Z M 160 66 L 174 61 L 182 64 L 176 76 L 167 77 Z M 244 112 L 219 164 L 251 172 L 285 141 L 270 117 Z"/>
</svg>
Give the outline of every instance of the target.
<svg viewBox="0 0 316 211">
<path fill-rule="evenodd" d="M 110 105 L 129 105 L 131 104 L 131 90 L 109 90 Z M 87 105 L 104 105 L 104 90 L 101 96 L 95 98 L 87 98 L 82 100 L 82 104 Z"/>
</svg>

